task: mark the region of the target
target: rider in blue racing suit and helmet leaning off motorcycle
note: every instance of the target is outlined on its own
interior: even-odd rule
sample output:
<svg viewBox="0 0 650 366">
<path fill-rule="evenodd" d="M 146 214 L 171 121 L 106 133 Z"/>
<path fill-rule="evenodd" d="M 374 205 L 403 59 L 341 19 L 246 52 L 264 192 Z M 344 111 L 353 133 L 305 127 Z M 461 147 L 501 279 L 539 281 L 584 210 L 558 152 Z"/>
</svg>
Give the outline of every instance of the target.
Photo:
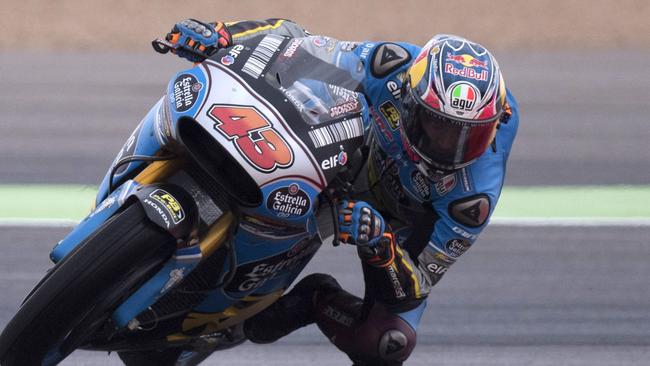
<svg viewBox="0 0 650 366">
<path fill-rule="evenodd" d="M 338 212 L 339 240 L 357 245 L 366 293 L 360 299 L 329 275 L 309 275 L 246 321 L 246 336 L 269 343 L 316 323 L 355 365 L 401 365 L 415 346 L 430 288 L 473 245 L 494 210 L 517 104 L 490 52 L 452 35 L 418 47 L 339 42 L 284 19 L 188 19 L 167 41 L 184 45 L 175 52 L 197 62 L 262 34 L 310 37 L 305 47 L 326 48 L 335 66 L 365 74 L 361 92 L 373 138 L 367 174 L 355 186 L 366 193 L 341 202 Z M 341 55 L 356 62 L 342 62 Z"/>
</svg>

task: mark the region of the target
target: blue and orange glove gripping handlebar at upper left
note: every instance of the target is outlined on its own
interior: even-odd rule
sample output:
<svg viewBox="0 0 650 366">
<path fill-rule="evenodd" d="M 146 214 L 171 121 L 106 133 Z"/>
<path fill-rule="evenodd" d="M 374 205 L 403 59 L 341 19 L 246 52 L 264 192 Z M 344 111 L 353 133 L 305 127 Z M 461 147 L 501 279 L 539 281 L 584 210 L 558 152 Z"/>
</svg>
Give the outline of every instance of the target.
<svg viewBox="0 0 650 366">
<path fill-rule="evenodd" d="M 219 48 L 232 45 L 230 33 L 223 23 L 204 23 L 186 19 L 176 23 L 165 39 L 174 45 L 172 52 L 192 62 L 212 56 Z"/>
</svg>

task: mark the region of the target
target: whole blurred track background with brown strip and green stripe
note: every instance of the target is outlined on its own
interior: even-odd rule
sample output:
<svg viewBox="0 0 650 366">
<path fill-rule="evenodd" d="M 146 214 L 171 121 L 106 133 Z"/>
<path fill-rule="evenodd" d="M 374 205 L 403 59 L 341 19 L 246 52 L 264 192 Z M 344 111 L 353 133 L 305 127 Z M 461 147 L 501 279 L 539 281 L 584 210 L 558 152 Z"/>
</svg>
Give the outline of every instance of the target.
<svg viewBox="0 0 650 366">
<path fill-rule="evenodd" d="M 344 40 L 424 44 L 436 33 L 465 36 L 495 54 L 519 100 L 520 129 L 502 201 L 533 214 L 502 216 L 536 224 L 495 218 L 432 292 L 408 365 L 647 364 L 650 2 L 0 4 L 0 201 L 10 203 L 0 206 L 0 327 L 49 266 L 51 246 L 69 231 L 60 221 L 21 220 L 60 218 L 49 200 L 61 199 L 55 193 L 61 187 L 91 197 L 167 81 L 191 66 L 154 53 L 151 40 L 189 17 L 283 17 Z M 35 191 L 25 195 L 24 188 Z M 52 206 L 53 213 L 43 214 Z M 29 212 L 16 214 L 24 207 Z M 362 293 L 351 248 L 324 245 L 306 273 L 314 271 Z M 278 344 L 223 352 L 207 364 L 346 362 L 308 327 Z M 119 363 L 114 355 L 87 352 L 64 363 L 91 364 Z"/>
</svg>

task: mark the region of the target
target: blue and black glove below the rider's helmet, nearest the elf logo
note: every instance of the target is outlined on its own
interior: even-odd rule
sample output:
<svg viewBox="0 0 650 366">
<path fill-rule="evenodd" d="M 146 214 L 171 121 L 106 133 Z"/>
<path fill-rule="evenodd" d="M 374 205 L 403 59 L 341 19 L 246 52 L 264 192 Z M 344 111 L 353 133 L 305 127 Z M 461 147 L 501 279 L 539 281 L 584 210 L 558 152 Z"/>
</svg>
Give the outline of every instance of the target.
<svg viewBox="0 0 650 366">
<path fill-rule="evenodd" d="M 374 247 L 386 230 L 384 218 L 364 201 L 343 200 L 338 205 L 339 241 Z"/>
</svg>

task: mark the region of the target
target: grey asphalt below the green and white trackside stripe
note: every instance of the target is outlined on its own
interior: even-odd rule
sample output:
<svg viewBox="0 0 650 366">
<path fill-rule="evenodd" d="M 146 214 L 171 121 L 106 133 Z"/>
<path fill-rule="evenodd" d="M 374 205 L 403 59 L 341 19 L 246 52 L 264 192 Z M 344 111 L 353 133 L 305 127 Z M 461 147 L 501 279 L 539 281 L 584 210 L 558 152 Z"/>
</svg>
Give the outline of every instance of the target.
<svg viewBox="0 0 650 366">
<path fill-rule="evenodd" d="M 2 228 L 0 327 L 43 275 L 66 229 Z M 647 365 L 650 228 L 490 227 L 435 287 L 407 365 Z M 351 247 L 325 244 L 306 273 L 363 291 Z M 309 326 L 272 345 L 245 344 L 206 365 L 349 364 Z M 77 352 L 63 365 L 119 365 Z"/>
</svg>

